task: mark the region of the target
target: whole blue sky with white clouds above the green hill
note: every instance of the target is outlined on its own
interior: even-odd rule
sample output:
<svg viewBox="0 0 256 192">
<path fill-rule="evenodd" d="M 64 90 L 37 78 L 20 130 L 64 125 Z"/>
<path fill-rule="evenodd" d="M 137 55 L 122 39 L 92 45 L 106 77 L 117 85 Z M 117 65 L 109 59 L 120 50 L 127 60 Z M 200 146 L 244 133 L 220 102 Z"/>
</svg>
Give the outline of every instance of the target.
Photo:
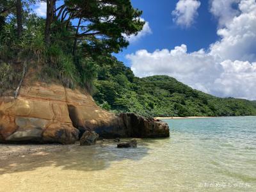
<svg viewBox="0 0 256 192">
<path fill-rule="evenodd" d="M 168 75 L 218 97 L 256 100 L 255 0 L 131 0 L 143 30 L 115 54 L 138 77 Z M 44 16 L 45 4 L 35 12 Z"/>
</svg>

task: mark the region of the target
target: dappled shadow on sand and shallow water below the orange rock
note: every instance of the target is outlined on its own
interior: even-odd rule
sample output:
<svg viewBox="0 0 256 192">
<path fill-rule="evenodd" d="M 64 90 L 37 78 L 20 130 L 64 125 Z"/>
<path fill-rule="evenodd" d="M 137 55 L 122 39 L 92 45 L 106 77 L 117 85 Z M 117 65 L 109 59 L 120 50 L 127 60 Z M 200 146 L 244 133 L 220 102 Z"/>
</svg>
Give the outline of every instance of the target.
<svg viewBox="0 0 256 192">
<path fill-rule="evenodd" d="M 22 145 L 26 153 L 10 156 L 0 160 L 0 175 L 4 173 L 33 171 L 46 166 L 60 167 L 63 170 L 78 170 L 90 172 L 104 170 L 115 161 L 138 161 L 148 155 L 149 144 L 157 140 L 139 140 L 138 148 L 116 148 L 116 143 L 102 142 L 94 146 L 75 145 L 42 145 L 43 150 L 33 150 L 36 145 Z M 0 145 L 0 149 L 1 149 Z M 39 148 L 39 147 L 38 147 Z"/>
</svg>

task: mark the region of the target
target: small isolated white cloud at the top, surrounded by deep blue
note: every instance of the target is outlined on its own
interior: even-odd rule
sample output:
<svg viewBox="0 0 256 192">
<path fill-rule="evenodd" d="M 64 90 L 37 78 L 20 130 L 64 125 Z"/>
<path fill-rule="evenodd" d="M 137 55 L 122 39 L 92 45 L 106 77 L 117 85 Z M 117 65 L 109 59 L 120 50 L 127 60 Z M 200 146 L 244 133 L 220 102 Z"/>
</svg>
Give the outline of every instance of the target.
<svg viewBox="0 0 256 192">
<path fill-rule="evenodd" d="M 179 26 L 189 28 L 195 22 L 200 4 L 197 0 L 179 0 L 172 12 L 173 21 Z"/>
</svg>

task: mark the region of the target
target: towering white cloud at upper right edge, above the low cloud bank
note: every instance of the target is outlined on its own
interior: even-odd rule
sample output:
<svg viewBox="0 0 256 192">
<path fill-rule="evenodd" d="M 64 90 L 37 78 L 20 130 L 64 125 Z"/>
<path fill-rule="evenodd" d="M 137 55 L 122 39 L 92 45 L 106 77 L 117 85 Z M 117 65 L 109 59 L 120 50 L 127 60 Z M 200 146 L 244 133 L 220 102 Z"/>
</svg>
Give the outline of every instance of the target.
<svg viewBox="0 0 256 192">
<path fill-rule="evenodd" d="M 218 30 L 221 40 L 211 45 L 211 54 L 226 60 L 256 61 L 256 2 L 239 4 L 240 15 Z"/>
</svg>

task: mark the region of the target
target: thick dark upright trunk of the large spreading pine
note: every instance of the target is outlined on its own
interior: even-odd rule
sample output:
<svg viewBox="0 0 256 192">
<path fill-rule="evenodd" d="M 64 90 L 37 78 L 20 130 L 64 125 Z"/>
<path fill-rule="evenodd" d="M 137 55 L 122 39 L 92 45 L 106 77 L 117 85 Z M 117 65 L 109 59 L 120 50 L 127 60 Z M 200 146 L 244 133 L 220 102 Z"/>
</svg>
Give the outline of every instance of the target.
<svg viewBox="0 0 256 192">
<path fill-rule="evenodd" d="M 54 0 L 47 0 L 46 21 L 45 21 L 45 43 L 51 44 L 51 24 L 54 15 Z"/>
</svg>

